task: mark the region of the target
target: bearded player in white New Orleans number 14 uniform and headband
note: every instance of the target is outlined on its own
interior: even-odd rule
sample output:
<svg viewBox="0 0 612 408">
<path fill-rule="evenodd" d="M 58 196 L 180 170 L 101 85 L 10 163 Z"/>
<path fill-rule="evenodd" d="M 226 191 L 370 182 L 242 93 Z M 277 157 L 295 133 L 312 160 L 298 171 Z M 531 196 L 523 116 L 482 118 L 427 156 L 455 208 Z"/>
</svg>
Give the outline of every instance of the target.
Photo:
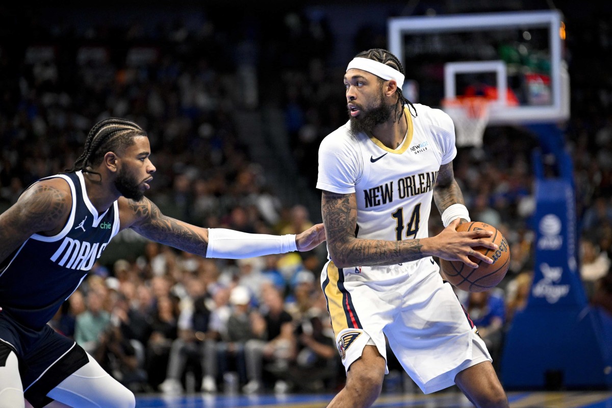
<svg viewBox="0 0 612 408">
<path fill-rule="evenodd" d="M 469 221 L 453 176 L 450 117 L 401 93 L 400 61 L 389 51 L 357 54 L 344 83 L 350 119 L 319 147 L 317 188 L 329 262 L 321 274 L 346 386 L 329 407 L 369 407 L 386 365 L 385 336 L 424 393 L 457 384 L 477 407 L 508 401 L 476 327 L 433 256 L 491 263 L 490 232 L 457 232 Z M 428 237 L 431 201 L 446 227 Z"/>
</svg>

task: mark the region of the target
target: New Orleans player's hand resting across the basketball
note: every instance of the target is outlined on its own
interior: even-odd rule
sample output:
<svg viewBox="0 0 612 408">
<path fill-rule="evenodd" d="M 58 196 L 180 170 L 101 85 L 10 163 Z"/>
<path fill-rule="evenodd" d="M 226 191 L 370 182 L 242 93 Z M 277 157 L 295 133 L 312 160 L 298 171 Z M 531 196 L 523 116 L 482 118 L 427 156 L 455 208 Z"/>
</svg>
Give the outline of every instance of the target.
<svg viewBox="0 0 612 408">
<path fill-rule="evenodd" d="M 460 218 L 452 221 L 446 228 L 436 236 L 439 240 L 439 258 L 447 261 L 461 261 L 471 268 L 477 268 L 478 264 L 472 262 L 468 257 L 482 259 L 487 264 L 493 263 L 493 259 L 485 254 L 474 250 L 474 247 L 485 247 L 491 250 L 497 250 L 498 246 L 491 242 L 490 238 L 493 235 L 491 231 L 483 229 L 474 229 L 472 231 L 457 232 L 457 226 L 460 224 Z"/>
</svg>

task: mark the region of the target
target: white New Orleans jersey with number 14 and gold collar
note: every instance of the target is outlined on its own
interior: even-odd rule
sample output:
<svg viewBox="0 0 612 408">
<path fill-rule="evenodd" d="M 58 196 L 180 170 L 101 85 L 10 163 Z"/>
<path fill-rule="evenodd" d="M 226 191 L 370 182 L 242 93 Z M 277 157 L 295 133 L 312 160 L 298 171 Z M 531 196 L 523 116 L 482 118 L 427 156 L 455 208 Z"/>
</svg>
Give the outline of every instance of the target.
<svg viewBox="0 0 612 408">
<path fill-rule="evenodd" d="M 316 187 L 333 193 L 355 193 L 356 237 L 406 240 L 428 237 L 433 187 L 441 165 L 457 155 L 452 119 L 440 109 L 416 104 L 417 117 L 408 106 L 408 132 L 397 149 L 389 149 L 372 135 L 352 136 L 347 122 L 323 139 L 319 147 Z M 411 275 L 420 265 L 436 267 L 424 258 L 403 264 Z M 367 270 L 367 273 L 365 273 Z M 400 273 L 398 265 L 360 267 L 364 280 L 384 280 Z"/>
</svg>

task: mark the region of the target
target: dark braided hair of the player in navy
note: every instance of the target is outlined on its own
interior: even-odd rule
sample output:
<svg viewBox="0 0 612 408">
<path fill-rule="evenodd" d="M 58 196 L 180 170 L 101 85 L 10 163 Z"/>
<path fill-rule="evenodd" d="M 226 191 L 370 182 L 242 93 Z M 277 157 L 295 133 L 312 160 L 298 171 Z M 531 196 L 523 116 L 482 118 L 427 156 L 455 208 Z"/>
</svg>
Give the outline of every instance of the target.
<svg viewBox="0 0 612 408">
<path fill-rule="evenodd" d="M 102 177 L 92 168 L 102 163 L 106 152 L 121 152 L 132 146 L 133 139 L 137 136 L 146 136 L 146 132 L 134 122 L 119 117 L 104 119 L 91 128 L 85 140 L 83 154 L 76 159 L 72 168 L 65 169 L 65 172 L 83 171 Z"/>
</svg>

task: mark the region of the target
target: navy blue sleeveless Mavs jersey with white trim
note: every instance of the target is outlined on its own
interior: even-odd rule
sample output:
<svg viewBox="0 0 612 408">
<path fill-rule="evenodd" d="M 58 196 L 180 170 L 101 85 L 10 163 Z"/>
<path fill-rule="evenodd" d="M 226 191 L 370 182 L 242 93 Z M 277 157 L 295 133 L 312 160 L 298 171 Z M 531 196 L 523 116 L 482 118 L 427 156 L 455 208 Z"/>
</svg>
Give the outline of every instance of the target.
<svg viewBox="0 0 612 408">
<path fill-rule="evenodd" d="M 0 265 L 2 313 L 27 327 L 51 320 L 119 232 L 117 201 L 99 214 L 89 201 L 83 174 L 59 174 L 70 185 L 72 209 L 53 237 L 34 234 Z"/>
</svg>

